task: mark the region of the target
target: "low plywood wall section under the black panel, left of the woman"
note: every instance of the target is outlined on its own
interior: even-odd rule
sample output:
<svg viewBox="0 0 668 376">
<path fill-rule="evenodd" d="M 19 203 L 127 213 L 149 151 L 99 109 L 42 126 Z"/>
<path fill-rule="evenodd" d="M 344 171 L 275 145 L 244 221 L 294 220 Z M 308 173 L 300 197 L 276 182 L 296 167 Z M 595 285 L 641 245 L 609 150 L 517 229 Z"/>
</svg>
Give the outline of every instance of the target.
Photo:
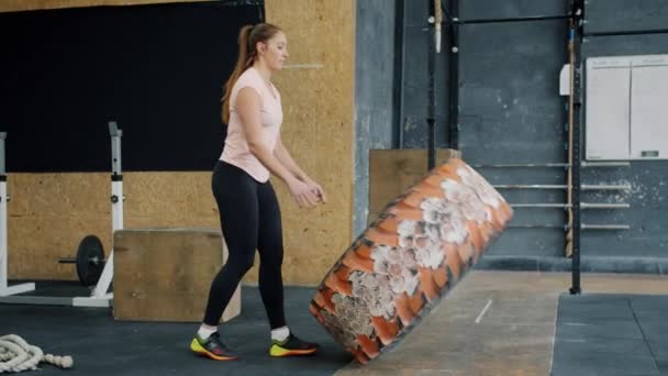
<svg viewBox="0 0 668 376">
<path fill-rule="evenodd" d="M 219 228 L 210 173 L 124 175 L 125 228 Z M 85 235 L 111 248 L 109 174 L 11 174 L 8 180 L 10 278 L 76 279 L 74 257 Z"/>
</svg>

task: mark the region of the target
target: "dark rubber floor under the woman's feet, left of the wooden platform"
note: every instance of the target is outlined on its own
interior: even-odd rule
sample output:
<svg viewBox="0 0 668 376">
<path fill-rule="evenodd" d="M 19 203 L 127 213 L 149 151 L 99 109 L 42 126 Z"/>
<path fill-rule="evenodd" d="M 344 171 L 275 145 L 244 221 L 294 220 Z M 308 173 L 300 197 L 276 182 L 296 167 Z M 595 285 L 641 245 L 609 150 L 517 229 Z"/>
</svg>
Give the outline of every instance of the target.
<svg viewBox="0 0 668 376">
<path fill-rule="evenodd" d="M 78 283 L 37 285 L 38 291 L 80 294 Z M 110 309 L 0 305 L 0 335 L 18 334 L 45 353 L 71 355 L 62 371 L 43 364 L 40 375 L 331 375 L 352 361 L 307 309 L 312 289 L 289 287 L 286 314 L 297 335 L 319 342 L 318 356 L 267 355 L 269 327 L 257 287 L 243 287 L 242 314 L 221 325 L 221 336 L 241 356 L 214 362 L 189 351 L 199 324 L 115 321 Z"/>
</svg>

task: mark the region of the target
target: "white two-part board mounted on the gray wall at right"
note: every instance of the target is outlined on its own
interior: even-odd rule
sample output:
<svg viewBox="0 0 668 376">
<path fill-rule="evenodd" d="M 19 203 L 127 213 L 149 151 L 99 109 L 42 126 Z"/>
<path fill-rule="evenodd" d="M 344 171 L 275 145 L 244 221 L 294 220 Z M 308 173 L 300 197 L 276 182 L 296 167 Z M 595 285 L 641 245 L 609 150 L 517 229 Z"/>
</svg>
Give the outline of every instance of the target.
<svg viewBox="0 0 668 376">
<path fill-rule="evenodd" d="M 668 55 L 587 59 L 586 157 L 668 158 Z"/>
</svg>

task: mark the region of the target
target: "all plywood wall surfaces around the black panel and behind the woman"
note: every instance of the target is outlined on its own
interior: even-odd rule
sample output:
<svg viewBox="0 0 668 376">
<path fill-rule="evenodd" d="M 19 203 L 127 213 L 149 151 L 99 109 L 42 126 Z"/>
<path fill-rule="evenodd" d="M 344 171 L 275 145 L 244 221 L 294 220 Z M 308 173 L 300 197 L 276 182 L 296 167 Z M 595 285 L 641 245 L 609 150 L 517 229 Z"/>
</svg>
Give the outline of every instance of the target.
<svg viewBox="0 0 668 376">
<path fill-rule="evenodd" d="M 11 10 L 12 3 L 74 2 L 0 1 L 0 11 Z M 267 21 L 280 25 L 289 41 L 288 66 L 272 77 L 282 96 L 282 140 L 329 198 L 325 206 L 300 209 L 283 184 L 274 180 L 283 218 L 283 279 L 312 286 L 353 236 L 354 0 L 265 3 Z M 210 178 L 210 172 L 124 174 L 125 228 L 219 228 Z M 12 174 L 8 188 L 10 278 L 76 279 L 74 265 L 57 261 L 74 256 L 86 234 L 97 234 L 110 248 L 109 174 Z M 257 266 L 244 280 L 257 281 Z"/>
</svg>

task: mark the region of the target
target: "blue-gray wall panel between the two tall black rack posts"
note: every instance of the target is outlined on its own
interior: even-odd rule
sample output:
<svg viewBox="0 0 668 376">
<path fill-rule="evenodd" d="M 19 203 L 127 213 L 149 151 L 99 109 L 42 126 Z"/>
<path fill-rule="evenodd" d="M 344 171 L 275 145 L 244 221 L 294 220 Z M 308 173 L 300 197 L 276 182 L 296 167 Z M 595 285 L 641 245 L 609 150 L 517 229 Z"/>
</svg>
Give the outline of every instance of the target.
<svg viewBox="0 0 668 376">
<path fill-rule="evenodd" d="M 461 1 L 463 20 L 565 15 L 564 1 Z M 494 4 L 494 5 L 492 5 Z M 530 7 L 531 5 L 531 7 Z M 459 146 L 469 164 L 546 164 L 567 159 L 565 99 L 567 21 L 467 24 L 460 27 Z M 564 185 L 564 168 L 480 168 L 492 184 Z M 564 190 L 500 191 L 512 203 L 566 202 Z M 513 225 L 561 225 L 563 209 L 517 208 Z M 565 232 L 513 228 L 490 255 L 564 254 Z"/>
</svg>

